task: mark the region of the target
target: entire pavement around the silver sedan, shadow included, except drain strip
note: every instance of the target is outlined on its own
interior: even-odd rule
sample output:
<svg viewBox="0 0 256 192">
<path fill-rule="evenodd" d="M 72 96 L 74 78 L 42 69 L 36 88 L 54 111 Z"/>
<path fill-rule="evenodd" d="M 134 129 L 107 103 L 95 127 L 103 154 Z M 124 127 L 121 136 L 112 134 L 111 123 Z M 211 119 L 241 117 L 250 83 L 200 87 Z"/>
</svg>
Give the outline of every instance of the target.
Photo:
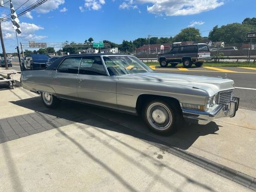
<svg viewBox="0 0 256 192">
<path fill-rule="evenodd" d="M 172 147 L 256 175 L 255 111 L 160 137 L 137 116 L 70 102 L 49 110 L 23 88 L 0 94 L 0 191 L 249 190 Z"/>
</svg>

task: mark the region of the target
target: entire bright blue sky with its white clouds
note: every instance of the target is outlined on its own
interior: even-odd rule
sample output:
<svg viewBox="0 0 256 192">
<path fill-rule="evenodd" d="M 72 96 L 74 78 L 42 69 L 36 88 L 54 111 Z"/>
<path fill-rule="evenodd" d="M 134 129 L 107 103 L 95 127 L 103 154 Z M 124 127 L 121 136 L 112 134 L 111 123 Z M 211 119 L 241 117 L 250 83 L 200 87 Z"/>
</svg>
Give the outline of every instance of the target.
<svg viewBox="0 0 256 192">
<path fill-rule="evenodd" d="M 17 9 L 26 1 L 12 3 Z M 28 0 L 17 12 L 36 1 Z M 10 3 L 4 3 L 1 17 L 10 14 Z M 92 37 L 94 42 L 121 44 L 148 35 L 173 37 L 189 26 L 208 36 L 216 25 L 256 17 L 255 10 L 255 0 L 49 0 L 19 17 L 22 33 L 18 41 L 82 43 Z M 2 22 L 2 30 L 6 52 L 15 52 L 12 23 Z"/>
</svg>

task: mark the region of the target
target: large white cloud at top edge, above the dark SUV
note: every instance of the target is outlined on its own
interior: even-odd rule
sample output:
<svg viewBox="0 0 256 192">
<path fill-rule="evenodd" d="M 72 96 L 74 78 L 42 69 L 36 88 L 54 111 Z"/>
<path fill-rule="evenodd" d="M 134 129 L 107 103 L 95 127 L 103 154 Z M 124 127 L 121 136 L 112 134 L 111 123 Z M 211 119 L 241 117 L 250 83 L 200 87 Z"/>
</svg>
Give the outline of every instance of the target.
<svg viewBox="0 0 256 192">
<path fill-rule="evenodd" d="M 123 3 L 126 2 L 127 0 Z M 131 2 L 131 0 L 128 2 Z M 216 9 L 224 4 L 224 0 L 137 0 L 136 2 L 149 4 L 147 6 L 149 13 L 165 14 L 166 16 L 195 15 Z M 131 4 L 134 4 L 134 2 L 132 1 Z M 127 9 L 126 7 L 125 9 Z"/>
</svg>

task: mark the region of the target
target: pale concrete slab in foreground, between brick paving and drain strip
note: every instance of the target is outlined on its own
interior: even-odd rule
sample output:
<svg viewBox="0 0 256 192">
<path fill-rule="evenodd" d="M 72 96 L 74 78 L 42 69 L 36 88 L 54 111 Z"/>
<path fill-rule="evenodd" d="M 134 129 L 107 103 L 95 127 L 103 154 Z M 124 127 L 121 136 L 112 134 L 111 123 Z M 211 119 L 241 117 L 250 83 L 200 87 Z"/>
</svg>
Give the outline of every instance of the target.
<svg viewBox="0 0 256 192">
<path fill-rule="evenodd" d="M 248 190 L 91 123 L 100 124 L 89 119 L 0 144 L 0 191 Z"/>
</svg>

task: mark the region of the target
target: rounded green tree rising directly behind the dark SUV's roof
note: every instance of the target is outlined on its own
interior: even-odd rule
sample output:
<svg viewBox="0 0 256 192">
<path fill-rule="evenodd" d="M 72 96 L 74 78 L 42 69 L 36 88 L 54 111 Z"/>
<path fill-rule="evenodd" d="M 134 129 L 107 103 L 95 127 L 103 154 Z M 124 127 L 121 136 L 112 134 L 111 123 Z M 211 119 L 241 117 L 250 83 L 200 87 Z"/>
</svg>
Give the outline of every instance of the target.
<svg viewBox="0 0 256 192">
<path fill-rule="evenodd" d="M 201 39 L 201 33 L 195 27 L 181 29 L 181 32 L 175 36 L 175 41 L 200 41 Z"/>
</svg>

